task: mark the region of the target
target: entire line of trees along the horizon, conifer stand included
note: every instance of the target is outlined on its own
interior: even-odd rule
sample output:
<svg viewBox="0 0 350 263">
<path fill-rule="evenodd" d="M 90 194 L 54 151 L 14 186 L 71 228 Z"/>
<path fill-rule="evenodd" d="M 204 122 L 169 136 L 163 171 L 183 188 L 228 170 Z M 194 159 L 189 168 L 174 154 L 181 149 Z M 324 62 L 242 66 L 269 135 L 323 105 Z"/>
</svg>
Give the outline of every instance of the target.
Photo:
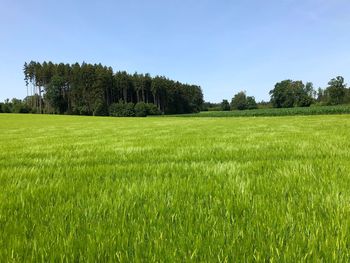
<svg viewBox="0 0 350 263">
<path fill-rule="evenodd" d="M 270 101 L 256 102 L 245 91 L 231 101 L 203 101 L 199 86 L 183 84 L 164 76 L 113 72 L 101 64 L 25 63 L 27 97 L 0 103 L 0 112 L 57 113 L 77 115 L 147 116 L 195 113 L 206 110 L 292 108 L 350 103 L 350 88 L 342 76 L 325 88 L 312 82 L 283 80 L 270 90 Z"/>
</svg>

